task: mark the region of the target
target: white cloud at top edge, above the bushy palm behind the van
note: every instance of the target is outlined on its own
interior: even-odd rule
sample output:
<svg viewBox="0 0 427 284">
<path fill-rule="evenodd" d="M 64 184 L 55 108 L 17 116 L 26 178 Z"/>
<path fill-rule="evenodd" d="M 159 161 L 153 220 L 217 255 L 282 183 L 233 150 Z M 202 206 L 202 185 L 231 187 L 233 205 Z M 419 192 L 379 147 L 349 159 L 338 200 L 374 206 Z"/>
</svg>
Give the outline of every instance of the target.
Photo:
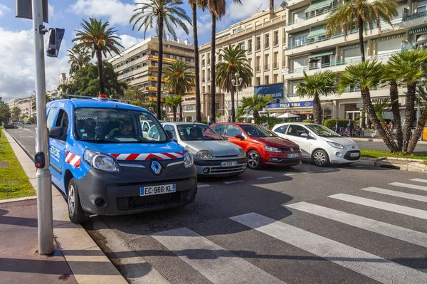
<svg viewBox="0 0 427 284">
<path fill-rule="evenodd" d="M 77 0 L 70 10 L 79 16 L 106 17 L 112 25 L 129 25 L 129 19 L 136 8 L 119 0 Z"/>
</svg>

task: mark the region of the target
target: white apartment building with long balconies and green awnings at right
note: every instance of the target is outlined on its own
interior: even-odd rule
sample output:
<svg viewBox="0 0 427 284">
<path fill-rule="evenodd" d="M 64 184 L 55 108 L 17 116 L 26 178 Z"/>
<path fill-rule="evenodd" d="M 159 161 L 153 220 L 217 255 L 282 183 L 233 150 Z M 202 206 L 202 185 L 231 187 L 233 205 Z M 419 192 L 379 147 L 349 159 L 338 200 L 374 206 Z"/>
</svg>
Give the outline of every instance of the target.
<svg viewBox="0 0 427 284">
<path fill-rule="evenodd" d="M 285 75 L 285 98 L 283 105 L 275 105 L 270 111 L 280 111 L 292 103 L 304 105 L 308 98 L 299 98 L 296 93 L 297 83 L 302 80 L 303 71 L 307 75 L 320 70 L 342 72 L 351 63 L 361 61 L 358 30 L 349 31 L 344 40 L 342 31 L 333 36 L 326 36 L 325 21 L 343 4 L 342 0 L 287 0 L 283 3 L 288 9 L 285 24 L 285 62 L 289 68 Z M 367 59 L 377 58 L 386 63 L 402 46 L 408 46 L 427 33 L 427 1 L 399 1 L 399 15 L 392 21 L 393 25 L 381 22 L 381 33 L 378 27 L 373 31 L 365 31 L 364 48 Z M 402 43 L 403 42 L 403 43 Z M 401 105 L 405 104 L 404 91 L 401 90 Z M 375 101 L 389 97 L 386 88 L 371 91 Z M 358 119 L 361 116 L 362 99 L 358 89 L 348 89 L 339 96 L 321 98 L 325 118 L 339 117 Z M 302 103 L 300 103 L 302 101 Z M 282 102 L 282 101 L 281 101 Z M 288 102 L 288 103 L 286 103 Z M 295 107 L 295 112 L 310 112 L 311 107 Z M 391 118 L 391 117 L 390 117 Z"/>
</svg>

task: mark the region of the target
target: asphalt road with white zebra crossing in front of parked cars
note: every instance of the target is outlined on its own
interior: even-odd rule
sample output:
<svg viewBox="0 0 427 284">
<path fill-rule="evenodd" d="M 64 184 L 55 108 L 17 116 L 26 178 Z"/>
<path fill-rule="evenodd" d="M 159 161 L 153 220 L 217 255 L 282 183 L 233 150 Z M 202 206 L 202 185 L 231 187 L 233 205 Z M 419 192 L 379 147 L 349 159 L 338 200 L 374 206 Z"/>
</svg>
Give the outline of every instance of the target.
<svg viewBox="0 0 427 284">
<path fill-rule="evenodd" d="M 130 283 L 427 283 L 426 202 L 426 174 L 300 164 L 85 228 Z"/>
</svg>

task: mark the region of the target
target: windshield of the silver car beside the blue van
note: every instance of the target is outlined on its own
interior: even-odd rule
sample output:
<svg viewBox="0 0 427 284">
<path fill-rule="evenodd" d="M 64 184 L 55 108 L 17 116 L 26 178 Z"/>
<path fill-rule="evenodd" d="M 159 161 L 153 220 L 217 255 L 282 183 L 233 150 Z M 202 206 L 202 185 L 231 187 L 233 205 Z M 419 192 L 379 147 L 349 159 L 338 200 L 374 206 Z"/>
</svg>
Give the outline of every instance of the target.
<svg viewBox="0 0 427 284">
<path fill-rule="evenodd" d="M 221 135 L 209 125 L 177 125 L 179 137 L 183 141 L 224 140 Z"/>
</svg>

